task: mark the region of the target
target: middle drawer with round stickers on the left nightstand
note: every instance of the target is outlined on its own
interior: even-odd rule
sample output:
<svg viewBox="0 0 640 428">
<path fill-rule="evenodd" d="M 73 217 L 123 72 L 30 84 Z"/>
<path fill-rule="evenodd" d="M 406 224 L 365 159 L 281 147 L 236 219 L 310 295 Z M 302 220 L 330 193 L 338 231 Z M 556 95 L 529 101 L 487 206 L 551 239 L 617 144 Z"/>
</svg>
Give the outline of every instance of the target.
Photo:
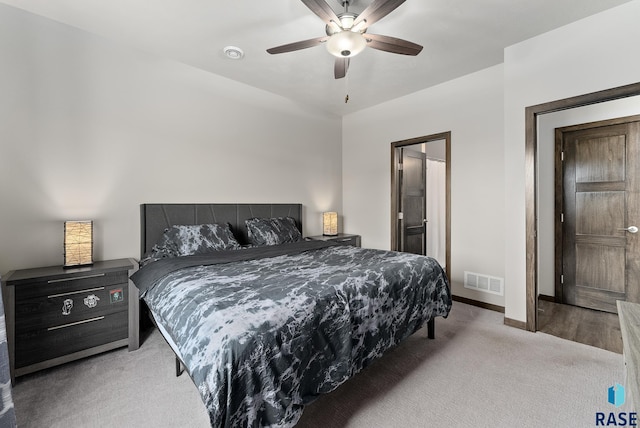
<svg viewBox="0 0 640 428">
<path fill-rule="evenodd" d="M 127 283 L 83 285 L 79 290 L 29 298 L 23 295 L 28 286 L 16 289 L 16 334 L 127 310 Z"/>
</svg>

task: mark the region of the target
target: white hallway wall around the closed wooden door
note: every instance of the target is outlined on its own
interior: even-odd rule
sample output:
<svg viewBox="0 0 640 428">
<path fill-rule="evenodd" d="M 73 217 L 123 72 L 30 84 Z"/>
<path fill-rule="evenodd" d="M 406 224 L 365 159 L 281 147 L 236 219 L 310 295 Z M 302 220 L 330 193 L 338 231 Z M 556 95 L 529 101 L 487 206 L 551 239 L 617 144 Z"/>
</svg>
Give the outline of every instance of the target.
<svg viewBox="0 0 640 428">
<path fill-rule="evenodd" d="M 640 97 L 543 114 L 538 119 L 538 294 L 555 296 L 555 129 L 640 114 Z"/>
</svg>

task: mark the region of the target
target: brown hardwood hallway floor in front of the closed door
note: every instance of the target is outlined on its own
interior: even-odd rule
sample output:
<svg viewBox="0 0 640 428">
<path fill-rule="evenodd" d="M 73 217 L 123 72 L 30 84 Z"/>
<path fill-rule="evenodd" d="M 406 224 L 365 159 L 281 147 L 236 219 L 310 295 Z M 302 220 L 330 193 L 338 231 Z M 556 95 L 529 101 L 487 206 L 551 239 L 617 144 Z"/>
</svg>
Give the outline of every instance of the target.
<svg viewBox="0 0 640 428">
<path fill-rule="evenodd" d="M 617 314 L 538 299 L 538 331 L 622 354 Z"/>
</svg>

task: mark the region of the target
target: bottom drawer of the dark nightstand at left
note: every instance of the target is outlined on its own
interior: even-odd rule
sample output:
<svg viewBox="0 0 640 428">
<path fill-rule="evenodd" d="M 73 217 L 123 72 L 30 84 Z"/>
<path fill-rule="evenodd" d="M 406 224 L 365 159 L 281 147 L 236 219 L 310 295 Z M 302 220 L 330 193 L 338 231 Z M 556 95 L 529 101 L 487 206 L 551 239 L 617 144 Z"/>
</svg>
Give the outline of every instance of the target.
<svg viewBox="0 0 640 428">
<path fill-rule="evenodd" d="M 127 311 L 23 333 L 16 331 L 16 369 L 126 339 Z"/>
</svg>

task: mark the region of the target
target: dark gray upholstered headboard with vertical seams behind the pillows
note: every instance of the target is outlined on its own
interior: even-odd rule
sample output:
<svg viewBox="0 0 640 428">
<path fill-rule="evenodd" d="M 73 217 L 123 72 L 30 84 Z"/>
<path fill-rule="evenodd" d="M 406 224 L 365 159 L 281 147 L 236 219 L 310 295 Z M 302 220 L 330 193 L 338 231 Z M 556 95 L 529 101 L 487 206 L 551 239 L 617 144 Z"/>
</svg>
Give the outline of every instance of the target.
<svg viewBox="0 0 640 428">
<path fill-rule="evenodd" d="M 229 223 L 241 244 L 248 244 L 244 221 L 253 217 L 293 217 L 302 232 L 302 204 L 142 204 L 140 257 L 177 224 Z"/>
</svg>

